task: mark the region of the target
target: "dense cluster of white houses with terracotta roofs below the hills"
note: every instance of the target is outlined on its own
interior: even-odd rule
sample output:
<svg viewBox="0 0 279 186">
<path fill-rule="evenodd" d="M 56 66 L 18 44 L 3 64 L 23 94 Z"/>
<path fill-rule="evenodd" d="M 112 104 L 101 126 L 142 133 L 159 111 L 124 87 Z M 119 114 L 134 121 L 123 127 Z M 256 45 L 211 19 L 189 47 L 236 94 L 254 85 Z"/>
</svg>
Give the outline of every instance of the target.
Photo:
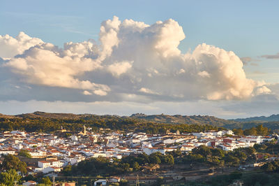
<svg viewBox="0 0 279 186">
<path fill-rule="evenodd" d="M 63 129 L 61 129 L 63 131 Z M 93 133 L 86 127 L 72 136 L 59 134 L 27 133 L 5 131 L 0 134 L 0 155 L 17 155 L 20 150 L 28 151 L 29 174 L 57 173 L 64 166 L 74 165 L 91 157 L 121 159 L 126 155 L 166 152 L 180 149 L 190 152 L 199 145 L 223 150 L 251 147 L 255 143 L 271 141 L 271 136 L 234 136 L 228 131 L 207 131 L 199 133 L 145 134 L 119 131 Z M 23 158 L 23 157 L 22 157 Z M 22 160 L 24 161 L 24 159 Z"/>
</svg>

